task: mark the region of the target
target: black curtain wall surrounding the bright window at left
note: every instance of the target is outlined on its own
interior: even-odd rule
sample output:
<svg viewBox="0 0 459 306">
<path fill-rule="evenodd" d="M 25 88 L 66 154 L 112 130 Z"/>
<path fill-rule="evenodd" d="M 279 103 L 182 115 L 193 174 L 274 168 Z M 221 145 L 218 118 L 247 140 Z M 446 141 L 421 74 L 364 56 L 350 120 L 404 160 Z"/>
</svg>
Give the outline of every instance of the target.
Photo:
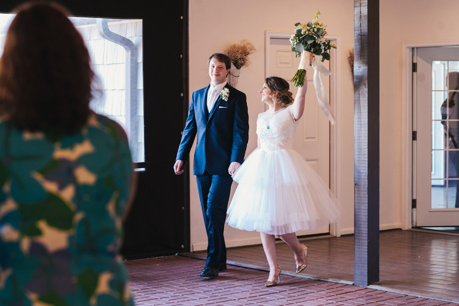
<svg viewBox="0 0 459 306">
<path fill-rule="evenodd" d="M 189 178 L 173 172 L 188 105 L 188 0 L 58 0 L 73 16 L 143 19 L 145 163 L 124 228 L 126 259 L 188 251 Z M 0 1 L 0 12 L 23 3 Z"/>
</svg>

